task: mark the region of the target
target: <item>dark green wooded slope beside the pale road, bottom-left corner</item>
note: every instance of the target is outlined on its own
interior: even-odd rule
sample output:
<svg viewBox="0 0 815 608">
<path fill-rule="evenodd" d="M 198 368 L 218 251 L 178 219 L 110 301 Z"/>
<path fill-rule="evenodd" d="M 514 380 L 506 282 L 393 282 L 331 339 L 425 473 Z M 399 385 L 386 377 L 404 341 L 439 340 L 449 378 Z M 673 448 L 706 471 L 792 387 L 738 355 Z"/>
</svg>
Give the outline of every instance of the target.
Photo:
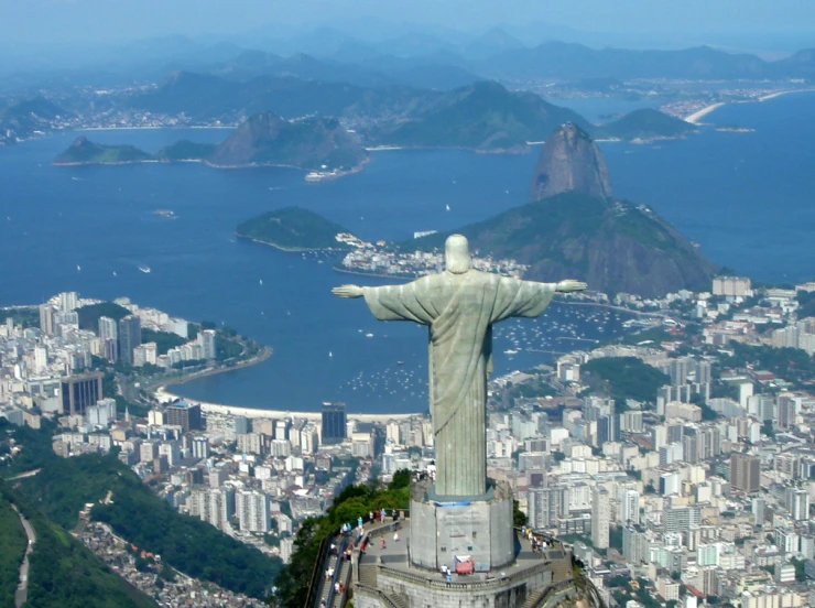
<svg viewBox="0 0 815 608">
<path fill-rule="evenodd" d="M 43 608 L 148 608 L 157 606 L 150 597 L 142 594 L 129 583 L 113 574 L 99 557 L 87 550 L 64 529 L 48 521 L 11 487 L 0 481 L 0 605 L 13 606 L 18 573 L 13 568 L 11 584 L 7 574 L 11 574 L 9 562 L 22 558 L 19 533 L 22 532 L 22 551 L 26 539 L 17 513 L 11 504 L 31 523 L 36 542 L 31 554 L 29 569 L 28 601 L 25 606 Z M 11 515 L 17 519 L 20 529 L 13 526 Z M 12 539 L 13 536 L 13 539 Z M 13 540 L 12 545 L 7 545 Z M 10 595 L 9 595 L 10 593 Z"/>
</svg>

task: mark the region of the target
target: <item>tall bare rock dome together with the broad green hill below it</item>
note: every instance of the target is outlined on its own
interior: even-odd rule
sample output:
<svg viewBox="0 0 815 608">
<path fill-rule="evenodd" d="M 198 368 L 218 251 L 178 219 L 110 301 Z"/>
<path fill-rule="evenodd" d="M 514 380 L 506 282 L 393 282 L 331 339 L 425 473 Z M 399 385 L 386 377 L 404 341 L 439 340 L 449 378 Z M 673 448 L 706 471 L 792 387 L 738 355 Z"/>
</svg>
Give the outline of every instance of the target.
<svg viewBox="0 0 815 608">
<path fill-rule="evenodd" d="M 653 209 L 612 197 L 599 149 L 574 123 L 546 140 L 529 204 L 454 231 L 465 235 L 482 256 L 524 264 L 525 278 L 574 276 L 605 293 L 653 297 L 698 291 L 716 272 L 716 265 Z M 441 248 L 454 231 L 408 247 Z"/>
</svg>

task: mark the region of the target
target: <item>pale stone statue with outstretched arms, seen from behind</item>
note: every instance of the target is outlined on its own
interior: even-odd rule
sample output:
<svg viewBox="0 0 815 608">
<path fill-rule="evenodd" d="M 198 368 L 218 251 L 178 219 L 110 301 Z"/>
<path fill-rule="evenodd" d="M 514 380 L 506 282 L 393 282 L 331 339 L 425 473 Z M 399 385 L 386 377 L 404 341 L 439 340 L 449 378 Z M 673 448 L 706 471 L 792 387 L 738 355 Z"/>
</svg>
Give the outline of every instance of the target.
<svg viewBox="0 0 815 608">
<path fill-rule="evenodd" d="M 537 283 L 472 269 L 467 239 L 445 243 L 445 272 L 404 285 L 343 285 L 340 297 L 365 297 L 379 321 L 413 321 L 430 330 L 430 400 L 436 447 L 435 492 L 481 497 L 487 491 L 487 379 L 492 324 L 536 317 L 555 293 L 583 291 L 579 281 Z"/>
</svg>

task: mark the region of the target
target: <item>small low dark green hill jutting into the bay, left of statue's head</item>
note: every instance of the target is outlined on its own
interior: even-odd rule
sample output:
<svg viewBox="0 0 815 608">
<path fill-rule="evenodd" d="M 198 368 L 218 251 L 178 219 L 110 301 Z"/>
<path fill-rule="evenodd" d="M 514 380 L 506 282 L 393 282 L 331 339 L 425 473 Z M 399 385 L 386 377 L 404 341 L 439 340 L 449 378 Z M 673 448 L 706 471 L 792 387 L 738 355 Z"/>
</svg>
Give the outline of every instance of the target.
<svg viewBox="0 0 815 608">
<path fill-rule="evenodd" d="M 286 250 L 348 249 L 335 238 L 348 229 L 302 207 L 275 209 L 240 224 L 239 237 Z"/>
</svg>

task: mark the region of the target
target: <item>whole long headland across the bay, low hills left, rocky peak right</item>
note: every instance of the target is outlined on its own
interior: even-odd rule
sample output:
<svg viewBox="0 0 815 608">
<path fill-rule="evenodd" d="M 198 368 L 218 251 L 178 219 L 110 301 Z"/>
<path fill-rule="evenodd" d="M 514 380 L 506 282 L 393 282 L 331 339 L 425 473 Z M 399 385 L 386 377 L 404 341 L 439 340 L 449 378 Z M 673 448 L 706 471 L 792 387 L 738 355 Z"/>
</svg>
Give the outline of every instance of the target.
<svg viewBox="0 0 815 608">
<path fill-rule="evenodd" d="M 272 112 L 261 112 L 217 145 L 182 140 L 150 154 L 132 145 L 102 145 L 83 135 L 54 159 L 54 164 L 204 162 L 216 167 L 287 166 L 317 176 L 339 176 L 359 171 L 367 160 L 368 153 L 357 138 L 336 119 L 290 122 Z"/>
</svg>

